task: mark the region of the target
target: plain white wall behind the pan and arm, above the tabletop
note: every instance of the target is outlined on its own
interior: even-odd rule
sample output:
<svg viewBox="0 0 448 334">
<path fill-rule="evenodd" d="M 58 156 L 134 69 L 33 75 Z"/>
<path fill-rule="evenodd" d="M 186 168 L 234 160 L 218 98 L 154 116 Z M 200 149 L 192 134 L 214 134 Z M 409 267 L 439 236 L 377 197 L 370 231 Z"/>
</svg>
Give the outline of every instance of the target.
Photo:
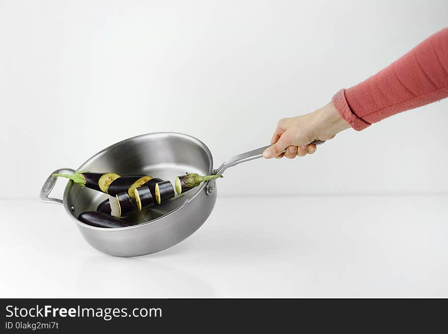
<svg viewBox="0 0 448 334">
<path fill-rule="evenodd" d="M 0 197 L 142 133 L 193 135 L 219 165 L 447 24 L 446 0 L 0 1 Z M 447 108 L 232 168 L 220 195 L 446 193 Z"/>
</svg>

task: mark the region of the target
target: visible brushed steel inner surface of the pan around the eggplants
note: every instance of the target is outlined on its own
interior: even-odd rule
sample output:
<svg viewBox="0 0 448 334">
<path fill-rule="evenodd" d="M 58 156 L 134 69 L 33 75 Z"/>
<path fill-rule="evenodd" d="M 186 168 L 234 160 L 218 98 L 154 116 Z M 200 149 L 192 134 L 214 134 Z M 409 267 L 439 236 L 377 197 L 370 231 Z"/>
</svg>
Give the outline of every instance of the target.
<svg viewBox="0 0 448 334">
<path fill-rule="evenodd" d="M 170 180 L 188 173 L 207 175 L 212 170 L 212 157 L 201 141 L 176 133 L 147 134 L 130 138 L 110 146 L 93 156 L 78 170 L 90 172 L 114 172 L 119 175 L 142 174 Z M 190 200 L 202 187 L 177 195 L 161 205 L 139 211 L 124 218 L 137 223 L 148 222 L 169 214 Z M 81 187 L 71 181 L 64 194 L 64 203 L 70 214 L 77 218 L 84 211 L 95 211 L 107 194 Z M 136 205 L 135 205 L 136 206 Z"/>
</svg>

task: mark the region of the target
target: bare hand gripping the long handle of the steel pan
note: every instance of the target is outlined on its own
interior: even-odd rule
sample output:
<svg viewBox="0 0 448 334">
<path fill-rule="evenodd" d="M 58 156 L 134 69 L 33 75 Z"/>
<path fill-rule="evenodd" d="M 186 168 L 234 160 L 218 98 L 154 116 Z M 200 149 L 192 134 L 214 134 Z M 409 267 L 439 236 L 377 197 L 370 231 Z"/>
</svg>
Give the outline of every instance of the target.
<svg viewBox="0 0 448 334">
<path fill-rule="evenodd" d="M 316 139 L 329 140 L 345 129 L 350 128 L 330 102 L 326 106 L 309 114 L 282 118 L 271 139 L 272 146 L 266 148 L 263 157 L 294 159 L 313 154 Z M 285 153 L 283 151 L 286 149 Z"/>
</svg>

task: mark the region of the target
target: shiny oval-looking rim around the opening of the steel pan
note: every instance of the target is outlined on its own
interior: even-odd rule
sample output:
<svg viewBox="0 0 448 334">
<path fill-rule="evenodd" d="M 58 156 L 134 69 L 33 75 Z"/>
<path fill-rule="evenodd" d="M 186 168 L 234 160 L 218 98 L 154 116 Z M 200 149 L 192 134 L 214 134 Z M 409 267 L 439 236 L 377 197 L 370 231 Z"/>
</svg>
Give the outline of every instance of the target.
<svg viewBox="0 0 448 334">
<path fill-rule="evenodd" d="M 202 149 L 204 149 L 205 153 L 207 154 L 208 160 L 209 160 L 209 174 L 211 174 L 213 172 L 213 156 L 211 154 L 210 149 L 207 147 L 207 145 L 199 140 L 196 137 L 184 134 L 184 133 L 179 133 L 179 132 L 152 132 L 152 133 L 145 133 L 142 135 L 138 135 L 138 136 L 134 136 L 134 137 L 130 137 L 124 140 L 121 140 L 115 144 L 112 144 L 110 146 L 107 146 L 106 148 L 100 150 L 98 153 L 94 154 L 92 157 L 90 157 L 89 159 L 87 159 L 81 166 L 79 166 L 76 171 L 80 171 L 82 170 L 82 167 L 84 165 L 86 165 L 87 163 L 89 163 L 91 160 L 97 158 L 98 156 L 101 156 L 102 154 L 105 154 L 108 150 L 113 149 L 115 147 L 118 147 L 126 142 L 130 142 L 130 141 L 134 141 L 134 140 L 141 140 L 144 137 L 163 137 L 165 135 L 170 135 L 170 136 L 175 136 L 175 137 L 179 137 L 179 138 L 183 138 L 183 139 L 188 139 L 192 142 L 194 142 L 195 144 L 199 145 Z M 65 187 L 64 190 L 64 208 L 65 211 L 67 212 L 68 216 L 74 220 L 79 226 L 83 227 L 83 228 L 88 228 L 88 229 L 92 229 L 92 230 L 99 230 L 99 231 L 123 231 L 123 230 L 131 230 L 131 229 L 135 229 L 135 228 L 139 228 L 139 227 L 143 227 L 143 226 L 147 226 L 149 224 L 153 224 L 156 223 L 166 217 L 169 217 L 173 214 L 175 214 L 175 212 L 181 210 L 183 207 L 185 207 L 186 205 L 188 205 L 188 203 L 190 203 L 193 199 L 195 199 L 197 196 L 199 196 L 199 194 L 204 191 L 204 188 L 206 187 L 207 182 L 204 182 L 201 186 L 198 187 L 197 191 L 194 193 L 194 195 L 192 197 L 190 197 L 188 200 L 186 200 L 184 203 L 182 203 L 181 205 L 179 205 L 177 208 L 171 210 L 170 212 L 167 212 L 166 214 L 164 214 L 163 216 L 157 217 L 153 220 L 150 220 L 148 222 L 145 223 L 141 223 L 141 224 L 137 224 L 137 225 L 132 225 L 132 226 L 127 226 L 127 227 L 118 227 L 118 228 L 104 228 L 104 227 L 95 227 L 95 226 L 91 226 L 85 223 L 80 222 L 79 220 L 77 220 L 73 215 L 72 212 L 70 211 L 68 205 L 67 205 L 67 198 L 68 198 L 68 193 L 70 192 L 71 187 L 73 186 L 73 181 L 69 180 L 69 182 L 67 183 L 67 186 Z"/>
</svg>

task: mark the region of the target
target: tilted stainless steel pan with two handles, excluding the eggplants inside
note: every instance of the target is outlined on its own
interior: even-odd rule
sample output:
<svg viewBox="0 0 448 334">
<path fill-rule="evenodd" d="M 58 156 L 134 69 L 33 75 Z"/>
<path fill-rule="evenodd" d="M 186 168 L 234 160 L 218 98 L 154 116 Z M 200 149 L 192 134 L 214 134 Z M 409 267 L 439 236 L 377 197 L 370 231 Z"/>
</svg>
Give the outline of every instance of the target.
<svg viewBox="0 0 448 334">
<path fill-rule="evenodd" d="M 318 145 L 322 142 L 313 143 Z M 203 175 L 222 174 L 229 167 L 261 158 L 266 147 L 232 157 L 213 169 L 212 154 L 202 141 L 180 133 L 150 133 L 103 149 L 77 170 L 110 171 L 120 175 L 147 174 L 173 182 L 177 175 L 186 171 Z M 74 172 L 73 169 L 62 168 L 53 173 Z M 204 224 L 216 202 L 216 182 L 212 180 L 163 205 L 140 212 L 136 217 L 141 223 L 139 225 L 98 228 L 81 223 L 76 218 L 83 211 L 94 211 L 108 195 L 68 181 L 62 200 L 48 197 L 56 182 L 51 174 L 42 187 L 40 200 L 64 205 L 87 242 L 97 250 L 114 256 L 146 255 L 176 245 Z"/>
</svg>

